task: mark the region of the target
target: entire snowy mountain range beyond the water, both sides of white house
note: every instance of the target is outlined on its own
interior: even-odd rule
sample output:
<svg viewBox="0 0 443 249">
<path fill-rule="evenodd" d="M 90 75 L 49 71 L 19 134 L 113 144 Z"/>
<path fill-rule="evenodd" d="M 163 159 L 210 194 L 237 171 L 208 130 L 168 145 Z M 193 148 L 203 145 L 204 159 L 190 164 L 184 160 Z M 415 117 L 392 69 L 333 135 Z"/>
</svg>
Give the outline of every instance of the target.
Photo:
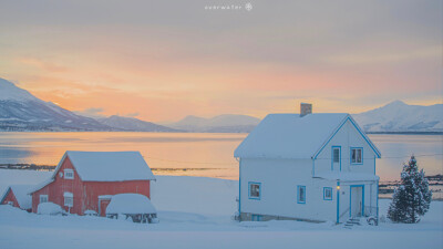
<svg viewBox="0 0 443 249">
<path fill-rule="evenodd" d="M 443 104 L 422 106 L 394 101 L 352 116 L 368 133 L 443 133 Z M 0 79 L 0 131 L 249 133 L 259 122 L 257 117 L 233 114 L 186 116 L 165 125 L 116 115 L 92 118 L 44 102 Z"/>
</svg>

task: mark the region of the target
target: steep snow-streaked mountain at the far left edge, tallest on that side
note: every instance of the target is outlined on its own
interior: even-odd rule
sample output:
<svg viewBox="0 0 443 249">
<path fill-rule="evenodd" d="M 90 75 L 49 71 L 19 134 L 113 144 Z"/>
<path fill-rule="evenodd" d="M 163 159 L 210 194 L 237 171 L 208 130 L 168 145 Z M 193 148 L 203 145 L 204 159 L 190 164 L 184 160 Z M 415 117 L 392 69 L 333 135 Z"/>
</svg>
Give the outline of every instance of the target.
<svg viewBox="0 0 443 249">
<path fill-rule="evenodd" d="M 0 131 L 109 131 L 97 121 L 44 102 L 0 79 Z"/>
</svg>

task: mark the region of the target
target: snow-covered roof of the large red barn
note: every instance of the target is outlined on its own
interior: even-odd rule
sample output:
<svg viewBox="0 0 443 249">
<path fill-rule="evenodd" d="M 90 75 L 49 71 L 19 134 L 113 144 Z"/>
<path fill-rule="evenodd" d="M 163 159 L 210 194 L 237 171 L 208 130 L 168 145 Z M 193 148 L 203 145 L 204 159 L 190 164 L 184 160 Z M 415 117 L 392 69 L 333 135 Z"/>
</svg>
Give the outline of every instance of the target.
<svg viewBox="0 0 443 249">
<path fill-rule="evenodd" d="M 154 180 L 155 177 L 140 152 L 65 153 L 84 181 Z M 64 156 L 64 157 L 65 157 Z M 60 168 L 63 159 L 60 162 Z M 56 173 L 55 169 L 54 174 Z M 54 176 L 53 176 L 54 177 Z"/>
</svg>

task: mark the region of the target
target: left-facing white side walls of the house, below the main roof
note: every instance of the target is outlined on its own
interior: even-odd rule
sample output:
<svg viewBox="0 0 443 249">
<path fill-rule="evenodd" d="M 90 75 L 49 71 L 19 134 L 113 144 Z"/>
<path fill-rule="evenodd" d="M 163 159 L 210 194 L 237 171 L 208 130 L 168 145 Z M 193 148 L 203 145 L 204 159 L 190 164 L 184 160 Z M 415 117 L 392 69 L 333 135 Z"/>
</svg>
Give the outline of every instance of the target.
<svg viewBox="0 0 443 249">
<path fill-rule="evenodd" d="M 311 177 L 311 159 L 241 159 L 240 211 L 312 220 L 333 220 L 336 191 L 323 200 L 323 187 L 336 183 Z M 249 181 L 260 183 L 260 199 L 248 198 Z M 297 203 L 297 186 L 306 186 L 306 204 Z"/>
</svg>

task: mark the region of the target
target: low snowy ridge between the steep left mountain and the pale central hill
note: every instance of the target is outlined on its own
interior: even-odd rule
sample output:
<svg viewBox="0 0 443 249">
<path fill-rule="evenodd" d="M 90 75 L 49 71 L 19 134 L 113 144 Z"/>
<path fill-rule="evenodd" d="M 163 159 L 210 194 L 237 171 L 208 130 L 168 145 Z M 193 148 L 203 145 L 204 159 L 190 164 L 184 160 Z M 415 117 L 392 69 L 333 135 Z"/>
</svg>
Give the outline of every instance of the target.
<svg viewBox="0 0 443 249">
<path fill-rule="evenodd" d="M 169 128 L 163 125 L 157 125 L 151 122 L 141 121 L 134 117 L 123 117 L 117 115 L 112 115 L 110 117 L 101 117 L 97 121 L 106 126 L 131 131 L 131 132 L 181 132 L 178 129 Z"/>
</svg>

